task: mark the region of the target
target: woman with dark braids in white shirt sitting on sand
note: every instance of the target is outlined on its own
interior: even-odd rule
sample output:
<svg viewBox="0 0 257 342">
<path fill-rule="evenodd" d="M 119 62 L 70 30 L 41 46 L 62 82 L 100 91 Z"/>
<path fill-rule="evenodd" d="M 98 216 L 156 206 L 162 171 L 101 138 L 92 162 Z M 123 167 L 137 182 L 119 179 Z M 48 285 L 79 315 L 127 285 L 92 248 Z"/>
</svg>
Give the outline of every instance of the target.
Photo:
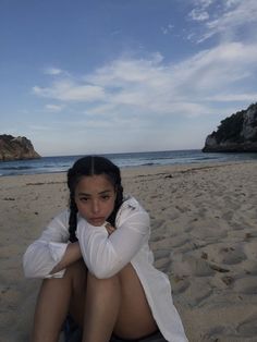
<svg viewBox="0 0 257 342">
<path fill-rule="evenodd" d="M 33 342 L 56 342 L 66 316 L 83 342 L 187 341 L 168 277 L 152 266 L 149 216 L 123 198 L 120 170 L 103 157 L 68 172 L 70 210 L 24 255 L 28 278 L 44 278 Z"/>
</svg>

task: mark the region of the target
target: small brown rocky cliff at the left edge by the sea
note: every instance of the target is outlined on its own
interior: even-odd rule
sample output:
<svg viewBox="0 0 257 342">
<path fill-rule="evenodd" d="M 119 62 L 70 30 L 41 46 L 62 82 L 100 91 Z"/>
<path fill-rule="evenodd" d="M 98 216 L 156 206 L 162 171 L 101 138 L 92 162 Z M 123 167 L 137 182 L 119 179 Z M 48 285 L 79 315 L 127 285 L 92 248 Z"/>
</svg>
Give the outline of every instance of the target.
<svg viewBox="0 0 257 342">
<path fill-rule="evenodd" d="M 0 160 L 36 159 L 40 156 L 25 136 L 0 135 Z"/>
</svg>

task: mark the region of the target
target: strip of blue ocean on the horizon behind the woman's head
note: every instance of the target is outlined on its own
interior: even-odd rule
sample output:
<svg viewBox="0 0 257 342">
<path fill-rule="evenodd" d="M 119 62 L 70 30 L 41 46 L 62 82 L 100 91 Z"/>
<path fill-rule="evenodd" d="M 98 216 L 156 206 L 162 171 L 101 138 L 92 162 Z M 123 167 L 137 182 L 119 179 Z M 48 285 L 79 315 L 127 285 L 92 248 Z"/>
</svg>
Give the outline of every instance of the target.
<svg viewBox="0 0 257 342">
<path fill-rule="evenodd" d="M 111 159 L 120 168 L 257 160 L 257 154 L 208 154 L 199 149 L 107 154 L 102 156 Z M 0 176 L 66 172 L 79 157 L 82 156 L 57 156 L 33 160 L 0 161 Z"/>
</svg>

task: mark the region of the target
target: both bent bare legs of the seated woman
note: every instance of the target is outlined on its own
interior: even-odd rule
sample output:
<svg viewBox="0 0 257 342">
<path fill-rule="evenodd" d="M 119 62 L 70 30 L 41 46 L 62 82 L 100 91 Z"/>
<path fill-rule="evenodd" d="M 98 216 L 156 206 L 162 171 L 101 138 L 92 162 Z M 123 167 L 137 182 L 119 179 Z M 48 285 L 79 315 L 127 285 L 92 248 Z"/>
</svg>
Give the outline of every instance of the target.
<svg viewBox="0 0 257 342">
<path fill-rule="evenodd" d="M 33 342 L 57 342 L 68 312 L 83 327 L 83 342 L 108 342 L 113 331 L 135 339 L 157 329 L 131 264 L 117 276 L 100 280 L 78 261 L 66 269 L 64 278 L 45 280 L 36 306 Z"/>
</svg>

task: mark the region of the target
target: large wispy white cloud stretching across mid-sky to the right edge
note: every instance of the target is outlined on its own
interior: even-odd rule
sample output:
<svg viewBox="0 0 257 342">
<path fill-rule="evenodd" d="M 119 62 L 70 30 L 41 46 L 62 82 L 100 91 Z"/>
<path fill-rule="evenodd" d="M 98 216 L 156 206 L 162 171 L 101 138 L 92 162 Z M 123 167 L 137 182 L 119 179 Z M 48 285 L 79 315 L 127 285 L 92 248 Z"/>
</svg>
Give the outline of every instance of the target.
<svg viewBox="0 0 257 342">
<path fill-rule="evenodd" d="M 160 53 L 148 59 L 120 58 L 77 81 L 34 87 L 34 94 L 59 100 L 60 106 L 81 103 L 87 120 L 95 117 L 113 125 L 125 126 L 127 118 L 146 124 L 162 117 L 204 115 L 213 112 L 209 101 L 224 102 L 222 94 L 230 94 L 227 102 L 235 97 L 252 101 L 255 90 L 245 89 L 256 78 L 256 60 L 257 46 L 242 42 L 222 44 L 176 64 L 166 64 Z M 47 106 L 58 110 L 59 105 Z M 101 120 L 94 124 L 102 125 Z"/>
</svg>

